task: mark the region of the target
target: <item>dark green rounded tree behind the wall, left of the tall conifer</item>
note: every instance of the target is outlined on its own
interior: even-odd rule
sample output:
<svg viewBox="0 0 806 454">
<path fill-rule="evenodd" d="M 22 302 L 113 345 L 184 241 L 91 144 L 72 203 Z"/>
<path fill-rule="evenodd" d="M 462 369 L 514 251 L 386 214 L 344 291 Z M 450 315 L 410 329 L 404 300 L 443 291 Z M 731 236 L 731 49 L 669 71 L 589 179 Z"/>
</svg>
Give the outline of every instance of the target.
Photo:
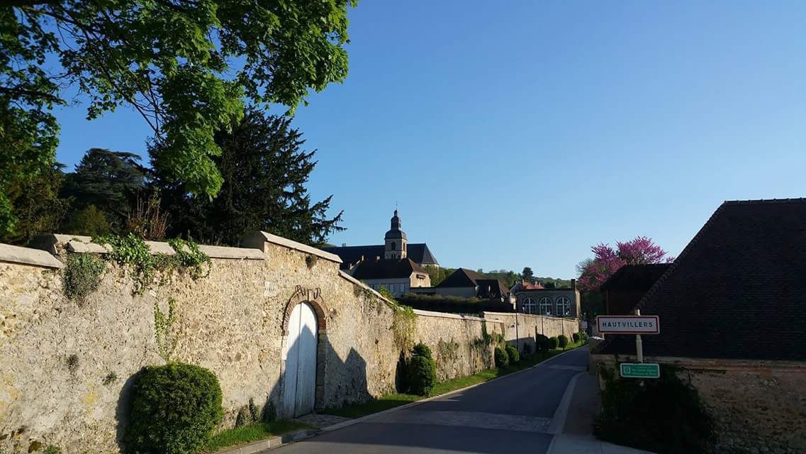
<svg viewBox="0 0 806 454">
<path fill-rule="evenodd" d="M 64 178 L 62 195 L 73 200 L 73 213 L 95 206 L 114 231 L 123 231 L 135 195 L 146 183 L 147 169 L 139 159 L 130 152 L 90 148 L 76 171 Z"/>
</svg>

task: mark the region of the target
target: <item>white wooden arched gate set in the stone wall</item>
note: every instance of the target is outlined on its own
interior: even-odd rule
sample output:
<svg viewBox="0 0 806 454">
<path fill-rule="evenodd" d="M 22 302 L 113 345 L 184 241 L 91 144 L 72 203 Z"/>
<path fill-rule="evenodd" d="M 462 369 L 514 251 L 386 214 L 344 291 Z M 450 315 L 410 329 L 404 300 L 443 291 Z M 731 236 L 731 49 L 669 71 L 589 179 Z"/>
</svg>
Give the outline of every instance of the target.
<svg viewBox="0 0 806 454">
<path fill-rule="evenodd" d="M 317 332 L 314 309 L 305 302 L 294 306 L 285 349 L 283 415 L 286 418 L 314 411 Z"/>
</svg>

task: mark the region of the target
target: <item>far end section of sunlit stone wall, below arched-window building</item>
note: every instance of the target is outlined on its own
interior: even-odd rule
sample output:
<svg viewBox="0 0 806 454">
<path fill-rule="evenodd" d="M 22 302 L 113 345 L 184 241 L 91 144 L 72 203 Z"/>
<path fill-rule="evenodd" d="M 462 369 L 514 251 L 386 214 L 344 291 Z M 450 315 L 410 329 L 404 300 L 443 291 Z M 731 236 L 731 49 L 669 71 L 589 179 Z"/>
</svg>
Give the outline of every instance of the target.
<svg viewBox="0 0 806 454">
<path fill-rule="evenodd" d="M 573 342 L 571 335 L 580 331 L 579 319 L 561 319 L 532 314 L 516 315 L 506 312 L 484 312 L 484 319 L 500 321 L 504 330 L 504 339 L 510 344 L 517 344 L 521 352 L 525 348 L 530 349 L 531 352 L 535 351 L 534 339 L 538 334 L 547 337 L 564 334 L 568 338 L 568 342 Z M 518 341 L 516 342 L 515 339 Z"/>
</svg>

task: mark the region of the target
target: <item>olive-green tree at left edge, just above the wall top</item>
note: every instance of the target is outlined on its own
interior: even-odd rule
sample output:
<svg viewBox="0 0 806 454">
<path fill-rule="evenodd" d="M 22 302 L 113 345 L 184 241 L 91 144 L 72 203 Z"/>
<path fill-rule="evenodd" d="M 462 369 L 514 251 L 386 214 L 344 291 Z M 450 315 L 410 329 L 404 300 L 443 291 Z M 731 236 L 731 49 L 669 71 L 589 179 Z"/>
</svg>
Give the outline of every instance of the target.
<svg viewBox="0 0 806 454">
<path fill-rule="evenodd" d="M 59 197 L 64 180 L 62 165 L 53 165 L 29 178 L 6 186 L 6 200 L 17 218 L 13 231 L 0 229 L 0 243 L 27 244 L 37 235 L 54 233 L 67 212 L 68 201 Z"/>
</svg>

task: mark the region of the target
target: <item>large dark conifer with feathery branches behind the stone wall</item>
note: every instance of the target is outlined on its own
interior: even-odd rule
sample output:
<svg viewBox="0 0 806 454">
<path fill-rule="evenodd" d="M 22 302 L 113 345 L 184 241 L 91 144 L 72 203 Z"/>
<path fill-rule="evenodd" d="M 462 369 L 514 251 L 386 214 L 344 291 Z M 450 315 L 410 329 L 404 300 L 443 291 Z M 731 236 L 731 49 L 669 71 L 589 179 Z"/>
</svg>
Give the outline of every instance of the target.
<svg viewBox="0 0 806 454">
<path fill-rule="evenodd" d="M 305 183 L 316 166 L 314 151 L 288 117 L 249 110 L 232 128 L 216 135 L 222 150 L 214 164 L 224 176 L 218 197 L 193 197 L 185 185 L 158 178 L 172 235 L 190 235 L 214 244 L 237 245 L 246 231 L 262 230 L 305 244 L 324 244 L 339 227 L 342 213 L 327 216 L 330 199 L 311 202 Z M 153 148 L 159 160 L 162 148 Z"/>
</svg>

